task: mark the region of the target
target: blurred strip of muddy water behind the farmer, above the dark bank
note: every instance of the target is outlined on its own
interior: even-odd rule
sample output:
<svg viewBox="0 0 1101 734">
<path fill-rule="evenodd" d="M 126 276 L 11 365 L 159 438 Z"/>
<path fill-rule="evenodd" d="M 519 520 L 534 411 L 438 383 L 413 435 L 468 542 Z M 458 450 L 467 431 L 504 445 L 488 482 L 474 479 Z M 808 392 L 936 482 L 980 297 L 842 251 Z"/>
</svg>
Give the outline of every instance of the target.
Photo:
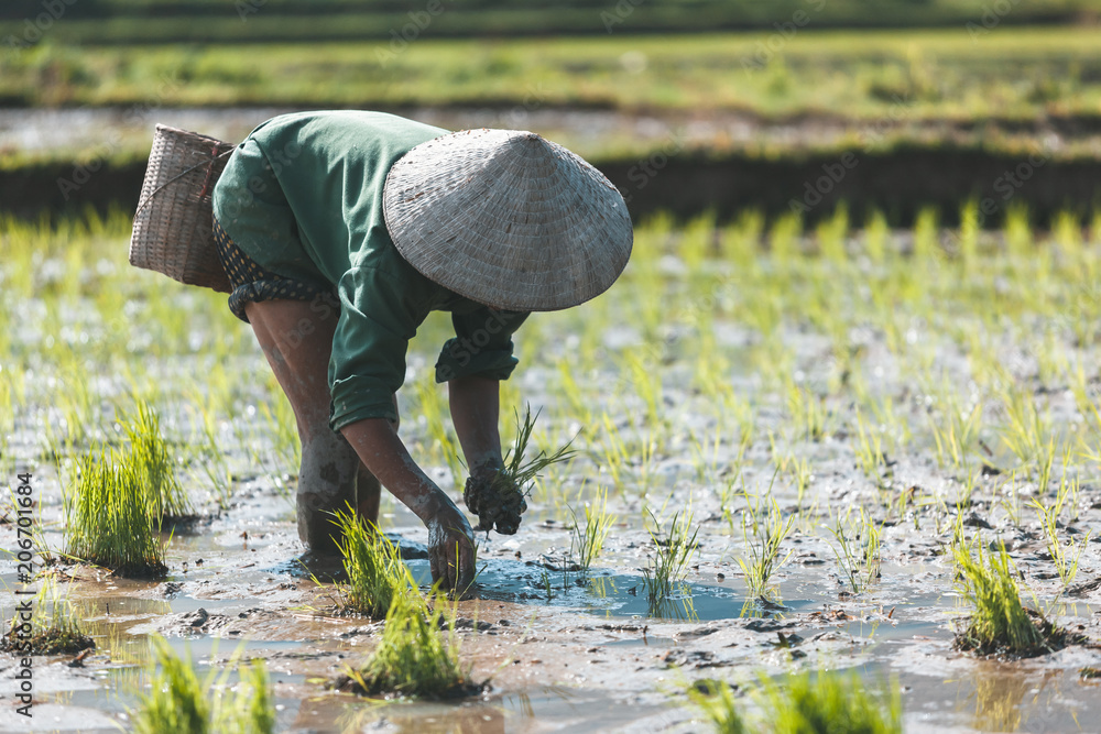
<svg viewBox="0 0 1101 734">
<path fill-rule="evenodd" d="M 226 141 L 240 141 L 260 122 L 288 108 L 153 109 L 135 113 L 127 108 L 0 109 L 0 153 L 32 154 L 58 151 L 117 154 L 146 153 L 154 123 L 195 130 Z M 764 121 L 732 110 L 632 112 L 601 109 L 544 108 L 516 105 L 495 108 L 407 108 L 393 110 L 448 130 L 506 128 L 534 130 L 581 155 L 607 158 L 617 153 L 654 150 L 666 154 L 682 149 L 730 150 L 744 146 L 832 149 L 852 140 L 879 141 L 903 134 L 917 140 L 979 140 L 979 132 L 946 120 L 870 120 L 866 122 L 816 116 L 810 119 Z M 1082 143 L 1073 131 L 1058 129 L 1005 131 L 1003 134 L 1043 135 L 1058 150 L 1068 141 Z M 624 149 L 629 141 L 633 150 Z"/>
</svg>

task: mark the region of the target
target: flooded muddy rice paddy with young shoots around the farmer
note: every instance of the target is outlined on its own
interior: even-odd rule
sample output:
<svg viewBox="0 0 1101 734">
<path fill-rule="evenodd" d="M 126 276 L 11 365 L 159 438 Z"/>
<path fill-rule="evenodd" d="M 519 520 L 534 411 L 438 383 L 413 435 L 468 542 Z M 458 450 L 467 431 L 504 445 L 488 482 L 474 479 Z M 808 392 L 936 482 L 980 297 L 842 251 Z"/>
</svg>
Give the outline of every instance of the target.
<svg viewBox="0 0 1101 734">
<path fill-rule="evenodd" d="M 480 598 L 457 626 L 490 688 L 458 703 L 326 687 L 382 623 L 340 614 L 337 569 L 302 558 L 293 417 L 225 297 L 130 269 L 120 218 L 6 222 L 0 470 L 12 486 L 33 473 L 54 560 L 37 570 L 97 645 L 75 664 L 35 658 L 34 731 L 126 727 L 154 634 L 200 671 L 238 648 L 263 658 L 280 731 L 709 731 L 691 681 L 738 684 L 752 709 L 742 692 L 761 675 L 822 669 L 897 681 L 906 731 L 1099 731 L 1101 683 L 1082 671 L 1101 667 L 1101 218 L 963 220 L 656 219 L 610 292 L 530 319 L 503 428 L 530 403 L 539 446 L 580 452 L 543 476 L 515 536 L 479 535 Z M 465 473 L 429 382 L 448 329 L 436 316 L 422 329 L 399 401 L 411 451 L 457 499 Z M 75 462 L 121 441 L 138 399 L 201 515 L 164 535 L 157 581 L 63 556 Z M 586 576 L 571 527 L 600 493 L 613 525 Z M 770 512 L 791 526 L 751 589 Z M 698 548 L 675 592 L 650 599 L 675 516 Z M 427 584 L 424 528 L 389 496 L 382 526 Z M 1091 642 L 1027 659 L 955 649 L 972 610 L 952 549 L 1000 543 L 1025 605 Z M 0 579 L 21 585 L 14 558 Z M 0 731 L 28 731 L 7 705 L 17 670 L 0 656 Z"/>
</svg>

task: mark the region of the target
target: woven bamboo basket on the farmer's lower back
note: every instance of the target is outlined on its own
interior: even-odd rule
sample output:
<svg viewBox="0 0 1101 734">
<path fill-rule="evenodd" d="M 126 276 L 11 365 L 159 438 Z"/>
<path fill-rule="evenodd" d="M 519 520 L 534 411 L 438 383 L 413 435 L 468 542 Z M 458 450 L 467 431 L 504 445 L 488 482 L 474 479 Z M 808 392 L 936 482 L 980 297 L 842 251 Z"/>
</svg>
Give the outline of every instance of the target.
<svg viewBox="0 0 1101 734">
<path fill-rule="evenodd" d="M 233 147 L 207 135 L 156 125 L 130 237 L 131 265 L 229 293 L 211 231 L 210 194 Z"/>
</svg>

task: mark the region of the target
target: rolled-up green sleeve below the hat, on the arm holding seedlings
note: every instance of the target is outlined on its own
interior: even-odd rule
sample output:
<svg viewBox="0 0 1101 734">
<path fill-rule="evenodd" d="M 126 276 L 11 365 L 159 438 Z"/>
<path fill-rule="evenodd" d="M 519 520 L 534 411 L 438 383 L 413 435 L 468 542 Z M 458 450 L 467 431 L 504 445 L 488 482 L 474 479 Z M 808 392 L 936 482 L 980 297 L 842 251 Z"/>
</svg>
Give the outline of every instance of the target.
<svg viewBox="0 0 1101 734">
<path fill-rule="evenodd" d="M 436 361 L 436 382 L 478 375 L 508 380 L 516 369 L 512 335 L 527 319 L 525 311 L 481 307 L 453 314 L 455 338 L 448 339 Z"/>
</svg>

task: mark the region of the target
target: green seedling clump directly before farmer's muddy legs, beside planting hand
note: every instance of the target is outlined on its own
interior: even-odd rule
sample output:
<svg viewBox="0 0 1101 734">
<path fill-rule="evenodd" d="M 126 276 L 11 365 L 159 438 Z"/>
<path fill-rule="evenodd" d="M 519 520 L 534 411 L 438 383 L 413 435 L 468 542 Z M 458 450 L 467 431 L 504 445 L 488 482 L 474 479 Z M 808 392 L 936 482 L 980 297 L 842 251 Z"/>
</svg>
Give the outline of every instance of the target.
<svg viewBox="0 0 1101 734">
<path fill-rule="evenodd" d="M 337 511 L 334 523 L 348 577 L 341 585 L 345 610 L 381 620 L 397 596 L 416 594 L 416 582 L 402 562 L 401 551 L 377 527 L 360 519 L 353 508 Z"/>
</svg>

